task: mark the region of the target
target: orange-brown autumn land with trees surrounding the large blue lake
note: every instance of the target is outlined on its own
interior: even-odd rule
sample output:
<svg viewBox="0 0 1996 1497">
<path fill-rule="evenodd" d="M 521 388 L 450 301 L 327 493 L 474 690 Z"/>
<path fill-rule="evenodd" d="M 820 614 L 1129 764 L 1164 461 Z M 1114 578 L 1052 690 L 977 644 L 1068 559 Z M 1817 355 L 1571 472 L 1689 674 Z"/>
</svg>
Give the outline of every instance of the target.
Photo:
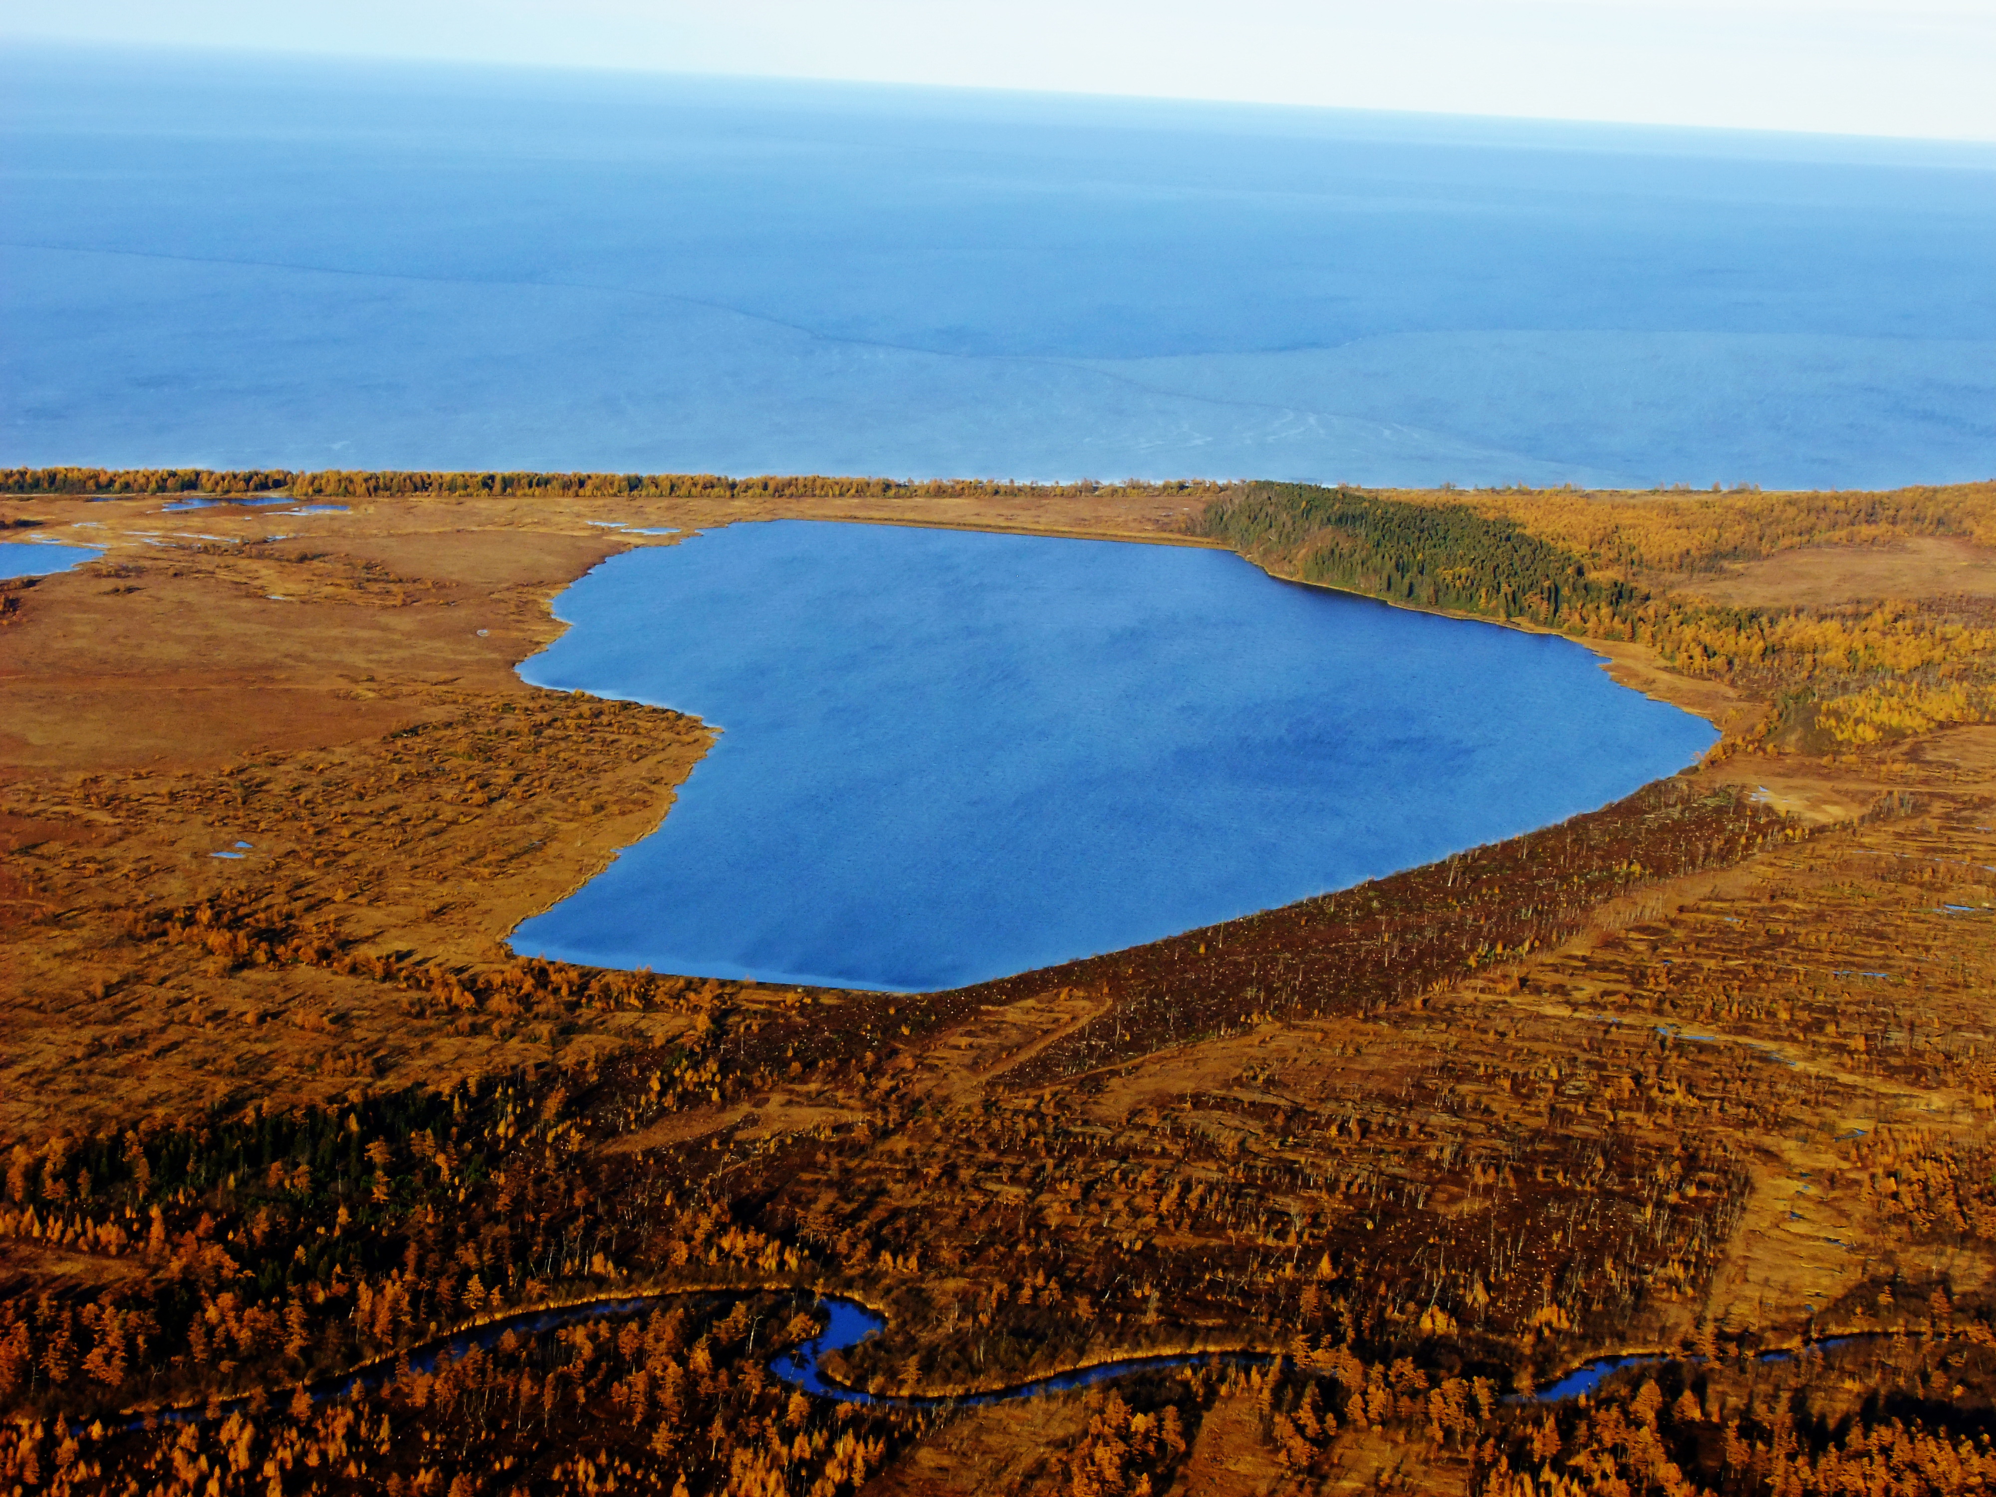
<svg viewBox="0 0 1996 1497">
<path fill-rule="evenodd" d="M 0 491 L 106 547 L 0 585 L 0 1491 L 1996 1481 L 1990 485 Z M 349 507 L 158 499 L 273 491 Z M 591 521 L 774 515 L 1230 545 L 1577 635 L 1727 737 L 958 992 L 515 958 L 713 741 L 513 675 L 567 581 L 677 539 Z M 822 1295 L 884 1317 L 820 1367 L 882 1401 L 772 1375 Z M 1150 1353 L 1214 1355 L 962 1401 Z"/>
</svg>

